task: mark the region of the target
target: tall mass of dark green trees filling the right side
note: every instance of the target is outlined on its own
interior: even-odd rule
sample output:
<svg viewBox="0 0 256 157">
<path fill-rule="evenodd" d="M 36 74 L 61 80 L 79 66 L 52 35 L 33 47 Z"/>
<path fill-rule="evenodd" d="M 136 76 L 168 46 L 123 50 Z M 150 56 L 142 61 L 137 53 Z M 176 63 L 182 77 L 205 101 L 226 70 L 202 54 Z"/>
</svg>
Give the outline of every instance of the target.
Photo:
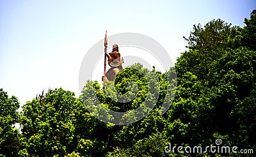
<svg viewBox="0 0 256 157">
<path fill-rule="evenodd" d="M 170 122 L 179 119 L 179 130 L 180 127 L 184 130 L 182 126 L 188 125 L 188 131 L 174 134 L 172 138 L 175 143 L 209 146 L 214 143 L 214 138 L 221 138 L 225 142 L 223 144 L 229 146 L 255 148 L 252 131 L 256 131 L 256 52 L 253 51 L 253 44 L 246 45 L 243 41 L 256 33 L 253 26 L 249 26 L 254 19 L 255 13 L 252 13 L 251 19 L 246 20 L 248 26 L 232 27 L 230 31 L 227 29 L 227 38 L 222 38 L 214 51 L 211 51 L 212 47 L 205 48 L 200 43 L 200 35 L 204 34 L 207 25 L 204 29 L 195 27 L 192 37 L 186 39 L 190 50 L 184 52 L 175 64 L 178 86 L 168 114 Z M 250 29 L 250 34 L 246 34 L 246 29 Z M 195 33 L 200 34 L 198 38 Z M 205 52 L 214 53 L 204 60 L 200 55 L 205 55 Z M 221 55 L 216 57 L 214 54 Z M 168 126 L 172 126 L 172 123 Z M 165 128 L 167 130 L 168 127 Z M 175 133 L 179 133 L 179 130 Z M 173 133 L 172 128 L 167 131 Z"/>
</svg>

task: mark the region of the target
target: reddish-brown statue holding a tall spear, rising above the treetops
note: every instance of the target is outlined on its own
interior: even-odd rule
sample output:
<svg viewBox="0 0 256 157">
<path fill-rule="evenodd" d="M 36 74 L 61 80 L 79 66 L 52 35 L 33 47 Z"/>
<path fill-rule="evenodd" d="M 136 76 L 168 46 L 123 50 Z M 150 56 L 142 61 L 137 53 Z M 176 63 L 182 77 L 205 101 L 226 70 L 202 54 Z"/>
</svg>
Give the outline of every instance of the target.
<svg viewBox="0 0 256 157">
<path fill-rule="evenodd" d="M 122 58 L 120 57 L 117 44 L 113 45 L 112 52 L 108 54 L 107 33 L 105 36 L 104 46 L 105 46 L 105 59 L 104 59 L 104 75 L 102 76 L 102 81 L 109 82 L 109 80 L 113 81 L 117 73 L 123 69 L 122 63 L 124 63 L 124 59 L 123 57 Z M 107 72 L 106 72 L 106 57 L 108 57 L 108 65 L 111 67 Z"/>
</svg>

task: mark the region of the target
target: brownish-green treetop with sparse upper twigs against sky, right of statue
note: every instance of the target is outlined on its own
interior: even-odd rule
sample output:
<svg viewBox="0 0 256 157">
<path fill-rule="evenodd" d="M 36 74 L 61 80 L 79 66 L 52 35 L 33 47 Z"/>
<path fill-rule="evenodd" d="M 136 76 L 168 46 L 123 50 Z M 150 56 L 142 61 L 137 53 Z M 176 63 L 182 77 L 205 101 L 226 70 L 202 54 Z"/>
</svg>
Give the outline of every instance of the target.
<svg viewBox="0 0 256 157">
<path fill-rule="evenodd" d="M 177 73 L 190 71 L 198 79 L 205 79 L 210 64 L 223 56 L 228 48 L 227 41 L 230 38 L 231 29 L 231 24 L 221 19 L 211 20 L 204 27 L 200 24 L 194 25 L 189 38 L 183 36 L 188 41 L 189 52 L 179 57 L 179 62 L 176 64 L 177 71 L 180 70 L 180 64 L 184 64 L 182 66 L 184 69 Z"/>
</svg>

